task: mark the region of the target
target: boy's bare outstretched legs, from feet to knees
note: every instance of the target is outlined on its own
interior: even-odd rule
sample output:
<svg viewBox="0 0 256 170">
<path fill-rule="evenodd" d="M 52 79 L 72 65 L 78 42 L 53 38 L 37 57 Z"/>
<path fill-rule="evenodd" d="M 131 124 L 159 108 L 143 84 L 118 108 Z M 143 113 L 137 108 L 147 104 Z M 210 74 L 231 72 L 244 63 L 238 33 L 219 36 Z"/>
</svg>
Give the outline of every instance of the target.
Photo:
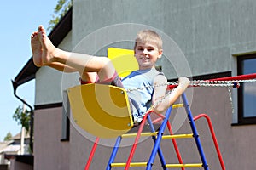
<svg viewBox="0 0 256 170">
<path fill-rule="evenodd" d="M 41 50 L 38 50 L 38 42 L 41 44 Z M 101 82 L 112 78 L 115 73 L 115 69 L 108 58 L 70 53 L 55 48 L 46 36 L 43 26 L 39 26 L 38 32 L 32 34 L 32 52 L 35 55 L 34 62 L 36 65 L 53 67 L 55 63 L 61 63 L 74 68 L 79 73 L 96 72 Z"/>
</svg>

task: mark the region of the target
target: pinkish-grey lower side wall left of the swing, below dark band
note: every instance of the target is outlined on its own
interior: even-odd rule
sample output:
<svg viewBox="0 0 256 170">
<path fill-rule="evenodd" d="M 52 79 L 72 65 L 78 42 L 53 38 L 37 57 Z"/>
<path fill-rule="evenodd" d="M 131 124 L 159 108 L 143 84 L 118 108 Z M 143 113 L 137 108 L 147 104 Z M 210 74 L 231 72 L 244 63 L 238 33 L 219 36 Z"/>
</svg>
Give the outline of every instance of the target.
<svg viewBox="0 0 256 170">
<path fill-rule="evenodd" d="M 34 169 L 68 170 L 69 142 L 61 142 L 62 108 L 34 113 Z"/>
</svg>

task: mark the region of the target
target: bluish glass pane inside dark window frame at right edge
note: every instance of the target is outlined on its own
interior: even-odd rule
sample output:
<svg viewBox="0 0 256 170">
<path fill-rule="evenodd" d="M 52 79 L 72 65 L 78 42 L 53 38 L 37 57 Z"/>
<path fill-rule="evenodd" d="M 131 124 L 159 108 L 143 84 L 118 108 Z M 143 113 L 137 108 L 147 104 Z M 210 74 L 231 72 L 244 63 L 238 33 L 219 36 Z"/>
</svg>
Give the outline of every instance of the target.
<svg viewBox="0 0 256 170">
<path fill-rule="evenodd" d="M 243 74 L 256 72 L 256 59 L 245 59 L 243 61 Z M 243 116 L 256 116 L 256 83 L 247 82 L 243 84 Z"/>
</svg>

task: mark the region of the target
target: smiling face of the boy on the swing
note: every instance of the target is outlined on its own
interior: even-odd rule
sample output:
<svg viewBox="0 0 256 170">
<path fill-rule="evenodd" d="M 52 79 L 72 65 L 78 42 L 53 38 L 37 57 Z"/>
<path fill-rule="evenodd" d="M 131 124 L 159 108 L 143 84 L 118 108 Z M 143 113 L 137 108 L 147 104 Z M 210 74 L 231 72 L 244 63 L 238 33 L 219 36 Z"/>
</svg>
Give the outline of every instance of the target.
<svg viewBox="0 0 256 170">
<path fill-rule="evenodd" d="M 135 57 L 140 70 L 154 68 L 157 59 L 162 56 L 162 49 L 158 49 L 154 43 L 150 42 L 137 42 L 135 48 Z"/>
</svg>

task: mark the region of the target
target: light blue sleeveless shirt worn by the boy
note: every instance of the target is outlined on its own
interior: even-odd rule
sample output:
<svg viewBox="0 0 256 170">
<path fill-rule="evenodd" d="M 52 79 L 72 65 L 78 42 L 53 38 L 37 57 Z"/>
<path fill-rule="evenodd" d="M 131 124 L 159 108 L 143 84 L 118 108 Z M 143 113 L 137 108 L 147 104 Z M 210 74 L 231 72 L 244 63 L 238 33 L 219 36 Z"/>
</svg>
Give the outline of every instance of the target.
<svg viewBox="0 0 256 170">
<path fill-rule="evenodd" d="M 148 111 L 154 92 L 153 83 L 154 77 L 163 73 L 157 71 L 155 68 L 148 70 L 132 71 L 130 75 L 122 79 L 125 89 L 142 88 L 128 91 L 129 99 L 132 104 L 132 115 L 135 122 L 141 122 L 143 114 Z M 148 88 L 143 88 L 148 87 Z"/>
</svg>

